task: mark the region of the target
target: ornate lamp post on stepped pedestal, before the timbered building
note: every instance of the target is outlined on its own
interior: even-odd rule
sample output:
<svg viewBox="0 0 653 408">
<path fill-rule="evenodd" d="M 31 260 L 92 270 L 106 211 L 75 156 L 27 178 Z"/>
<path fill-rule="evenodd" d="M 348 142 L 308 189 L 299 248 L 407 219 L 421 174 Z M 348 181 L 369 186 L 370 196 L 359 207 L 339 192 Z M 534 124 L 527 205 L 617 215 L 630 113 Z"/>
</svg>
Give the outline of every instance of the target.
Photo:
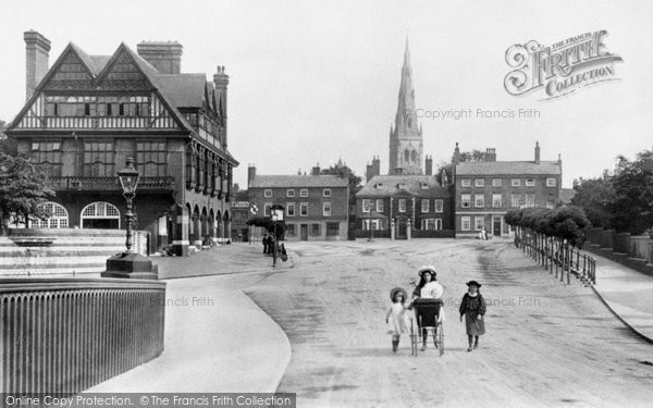
<svg viewBox="0 0 653 408">
<path fill-rule="evenodd" d="M 139 180 L 138 170 L 134 168 L 134 158 L 127 158 L 127 166 L 118 172 L 118 177 L 127 205 L 127 211 L 125 212 L 125 246 L 127 250 L 107 259 L 107 270 L 100 275 L 102 277 L 157 280 L 158 268 L 156 265 L 152 267 L 152 261 L 132 250 L 132 222 L 135 217 L 133 201 Z"/>
</svg>

